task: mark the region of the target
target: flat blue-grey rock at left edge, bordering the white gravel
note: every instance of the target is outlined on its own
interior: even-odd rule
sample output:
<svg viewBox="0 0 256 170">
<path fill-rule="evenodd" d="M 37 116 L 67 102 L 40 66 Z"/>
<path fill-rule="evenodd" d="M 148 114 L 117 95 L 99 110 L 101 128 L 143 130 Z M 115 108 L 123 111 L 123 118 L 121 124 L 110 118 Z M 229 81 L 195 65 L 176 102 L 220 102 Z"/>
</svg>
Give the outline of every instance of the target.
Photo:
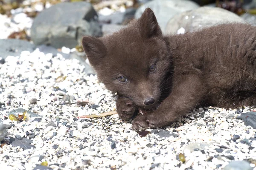
<svg viewBox="0 0 256 170">
<path fill-rule="evenodd" d="M 21 51 L 34 51 L 35 45 L 25 40 L 0 39 L 0 57 L 6 59 L 7 56 L 19 56 Z"/>
</svg>

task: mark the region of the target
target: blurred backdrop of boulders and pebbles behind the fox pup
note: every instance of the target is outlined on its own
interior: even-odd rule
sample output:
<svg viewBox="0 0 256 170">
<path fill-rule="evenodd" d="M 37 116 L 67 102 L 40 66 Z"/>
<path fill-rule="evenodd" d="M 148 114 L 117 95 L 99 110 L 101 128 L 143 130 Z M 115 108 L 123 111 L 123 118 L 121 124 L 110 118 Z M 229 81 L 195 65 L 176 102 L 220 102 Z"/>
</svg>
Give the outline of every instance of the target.
<svg viewBox="0 0 256 170">
<path fill-rule="evenodd" d="M 0 57 L 39 48 L 81 58 L 81 37 L 125 27 L 150 7 L 165 34 L 228 22 L 256 25 L 256 0 L 0 0 Z"/>
</svg>

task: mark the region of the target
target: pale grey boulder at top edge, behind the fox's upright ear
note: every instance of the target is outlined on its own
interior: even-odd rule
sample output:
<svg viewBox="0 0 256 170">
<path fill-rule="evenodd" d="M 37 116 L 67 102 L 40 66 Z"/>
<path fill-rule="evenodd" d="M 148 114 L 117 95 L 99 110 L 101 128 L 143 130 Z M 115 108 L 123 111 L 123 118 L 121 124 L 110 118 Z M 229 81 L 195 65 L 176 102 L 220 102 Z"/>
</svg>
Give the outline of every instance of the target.
<svg viewBox="0 0 256 170">
<path fill-rule="evenodd" d="M 181 12 L 196 9 L 199 5 L 190 0 L 152 0 L 137 9 L 135 18 L 138 19 L 148 7 L 154 11 L 160 28 L 164 30 L 170 18 Z"/>
</svg>

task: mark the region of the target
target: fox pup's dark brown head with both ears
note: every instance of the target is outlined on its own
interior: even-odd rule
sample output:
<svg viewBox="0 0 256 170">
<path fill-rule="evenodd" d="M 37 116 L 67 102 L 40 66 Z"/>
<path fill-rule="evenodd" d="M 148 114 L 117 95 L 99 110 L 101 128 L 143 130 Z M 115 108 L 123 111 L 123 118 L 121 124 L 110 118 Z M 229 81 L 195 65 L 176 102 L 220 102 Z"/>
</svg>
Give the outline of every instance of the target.
<svg viewBox="0 0 256 170">
<path fill-rule="evenodd" d="M 110 91 L 130 97 L 145 109 L 159 102 L 172 59 L 169 42 L 150 8 L 116 33 L 83 37 L 82 45 L 99 80 Z"/>
</svg>

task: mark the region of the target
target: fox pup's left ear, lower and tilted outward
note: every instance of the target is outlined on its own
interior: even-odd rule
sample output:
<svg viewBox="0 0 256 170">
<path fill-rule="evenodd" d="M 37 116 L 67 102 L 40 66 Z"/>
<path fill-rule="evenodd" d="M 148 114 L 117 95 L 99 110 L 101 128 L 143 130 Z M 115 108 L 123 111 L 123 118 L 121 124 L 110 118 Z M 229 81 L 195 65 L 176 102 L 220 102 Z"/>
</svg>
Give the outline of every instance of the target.
<svg viewBox="0 0 256 170">
<path fill-rule="evenodd" d="M 84 48 L 84 52 L 90 62 L 91 60 L 98 60 L 99 58 L 104 57 L 107 53 L 107 48 L 105 47 L 105 45 L 102 43 L 101 40 L 96 37 L 83 37 L 82 45 Z"/>
</svg>

